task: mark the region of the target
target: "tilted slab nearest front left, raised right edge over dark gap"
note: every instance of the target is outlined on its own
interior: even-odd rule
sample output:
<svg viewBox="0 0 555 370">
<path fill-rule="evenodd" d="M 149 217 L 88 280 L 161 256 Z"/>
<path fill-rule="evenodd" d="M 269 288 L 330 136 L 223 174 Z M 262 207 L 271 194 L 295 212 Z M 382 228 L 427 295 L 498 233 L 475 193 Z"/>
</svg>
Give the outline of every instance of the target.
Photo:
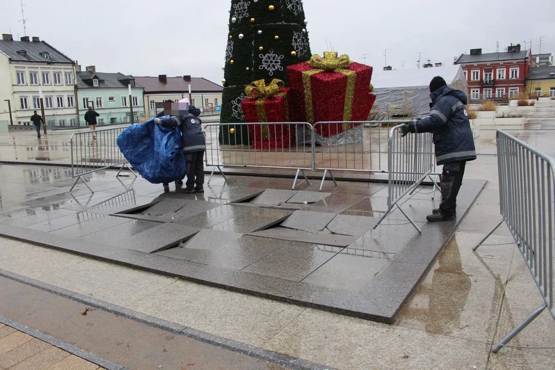
<svg viewBox="0 0 555 370">
<path fill-rule="evenodd" d="M 191 239 L 200 229 L 180 224 L 163 224 L 139 232 L 128 240 L 128 249 L 144 252 L 160 252 Z"/>
</svg>

